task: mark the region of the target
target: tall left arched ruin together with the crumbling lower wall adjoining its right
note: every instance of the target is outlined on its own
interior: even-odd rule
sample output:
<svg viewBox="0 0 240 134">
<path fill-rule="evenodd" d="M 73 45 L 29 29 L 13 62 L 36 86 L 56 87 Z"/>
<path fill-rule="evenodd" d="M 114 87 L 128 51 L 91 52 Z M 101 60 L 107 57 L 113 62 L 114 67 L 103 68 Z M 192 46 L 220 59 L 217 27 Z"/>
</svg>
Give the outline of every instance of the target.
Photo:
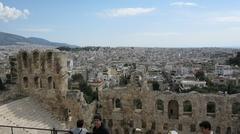
<svg viewBox="0 0 240 134">
<path fill-rule="evenodd" d="M 74 127 L 77 119 L 91 126 L 95 103 L 87 105 L 80 91 L 68 89 L 68 55 L 56 50 L 20 51 L 17 86 L 24 95 L 38 99 L 58 120 Z"/>
</svg>

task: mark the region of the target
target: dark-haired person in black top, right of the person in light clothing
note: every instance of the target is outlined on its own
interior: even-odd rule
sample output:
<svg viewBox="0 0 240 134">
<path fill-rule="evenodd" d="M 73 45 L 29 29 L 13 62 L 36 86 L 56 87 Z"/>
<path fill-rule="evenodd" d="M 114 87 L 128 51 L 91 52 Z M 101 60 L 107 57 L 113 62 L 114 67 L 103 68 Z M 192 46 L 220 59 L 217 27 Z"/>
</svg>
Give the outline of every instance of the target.
<svg viewBox="0 0 240 134">
<path fill-rule="evenodd" d="M 101 115 L 96 114 L 93 119 L 94 119 L 93 134 L 109 134 L 108 129 L 103 126 Z"/>
</svg>

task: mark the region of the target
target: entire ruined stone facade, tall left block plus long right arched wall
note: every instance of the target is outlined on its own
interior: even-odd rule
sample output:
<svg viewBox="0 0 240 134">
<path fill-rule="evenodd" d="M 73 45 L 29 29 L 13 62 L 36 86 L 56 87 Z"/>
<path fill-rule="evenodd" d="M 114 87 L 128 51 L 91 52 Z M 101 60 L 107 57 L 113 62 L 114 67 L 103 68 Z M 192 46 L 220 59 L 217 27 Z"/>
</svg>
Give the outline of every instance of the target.
<svg viewBox="0 0 240 134">
<path fill-rule="evenodd" d="M 150 134 L 173 129 L 180 134 L 197 134 L 203 120 L 210 121 L 216 134 L 240 133 L 240 94 L 152 91 L 142 80 L 133 86 L 99 91 L 99 102 L 86 104 L 79 91 L 67 94 L 67 71 L 67 56 L 61 52 L 20 51 L 17 55 L 18 88 L 47 104 L 60 118 L 70 115 L 71 127 L 81 118 L 89 128 L 97 111 L 112 134 L 132 134 L 136 128 Z"/>
</svg>

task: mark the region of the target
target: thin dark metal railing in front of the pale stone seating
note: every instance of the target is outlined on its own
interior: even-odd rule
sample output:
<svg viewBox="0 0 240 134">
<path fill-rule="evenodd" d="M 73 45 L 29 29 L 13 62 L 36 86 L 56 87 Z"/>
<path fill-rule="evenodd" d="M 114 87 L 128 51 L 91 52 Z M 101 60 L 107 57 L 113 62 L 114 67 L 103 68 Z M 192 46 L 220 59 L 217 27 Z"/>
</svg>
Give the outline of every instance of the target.
<svg viewBox="0 0 240 134">
<path fill-rule="evenodd" d="M 69 130 L 58 130 L 58 129 L 55 129 L 55 128 L 52 128 L 52 129 L 46 129 L 46 128 L 34 128 L 34 127 L 20 127 L 20 126 L 8 126 L 8 125 L 0 125 L 0 132 L 1 132 L 1 128 L 9 128 L 11 131 L 9 134 L 17 134 L 14 133 L 14 129 L 23 129 L 24 131 L 26 130 L 38 130 L 38 131 L 47 131 L 47 132 L 50 132 L 50 134 L 59 134 L 59 133 L 64 133 L 64 134 L 70 134 L 70 131 Z M 28 133 L 26 131 L 26 133 Z M 29 132 L 31 133 L 31 132 Z"/>
</svg>

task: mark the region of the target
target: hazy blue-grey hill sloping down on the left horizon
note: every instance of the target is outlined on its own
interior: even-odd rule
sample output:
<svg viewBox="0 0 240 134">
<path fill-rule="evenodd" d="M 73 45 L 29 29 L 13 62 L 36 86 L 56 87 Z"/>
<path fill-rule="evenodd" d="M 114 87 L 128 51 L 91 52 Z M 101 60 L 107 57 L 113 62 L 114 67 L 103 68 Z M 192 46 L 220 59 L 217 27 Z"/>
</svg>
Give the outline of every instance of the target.
<svg viewBox="0 0 240 134">
<path fill-rule="evenodd" d="M 52 46 L 52 47 L 76 47 L 73 45 L 69 45 L 66 43 L 58 43 L 58 42 L 51 42 L 42 38 L 36 38 L 36 37 L 23 37 L 15 34 L 10 33 L 4 33 L 0 32 L 0 46 L 6 46 L 6 45 L 20 45 L 19 43 L 26 43 L 26 44 L 36 44 L 36 45 L 43 45 L 43 46 Z"/>
</svg>

